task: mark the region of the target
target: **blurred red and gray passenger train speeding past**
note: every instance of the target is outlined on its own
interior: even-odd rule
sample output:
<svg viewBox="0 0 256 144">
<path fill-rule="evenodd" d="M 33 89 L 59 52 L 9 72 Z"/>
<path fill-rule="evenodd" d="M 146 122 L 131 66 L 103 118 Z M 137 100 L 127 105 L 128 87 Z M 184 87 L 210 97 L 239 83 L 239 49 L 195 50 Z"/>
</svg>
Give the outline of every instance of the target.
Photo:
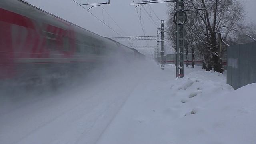
<svg viewBox="0 0 256 144">
<path fill-rule="evenodd" d="M 90 67 L 115 55 L 142 56 L 22 0 L 0 2 L 0 79 Z"/>
</svg>

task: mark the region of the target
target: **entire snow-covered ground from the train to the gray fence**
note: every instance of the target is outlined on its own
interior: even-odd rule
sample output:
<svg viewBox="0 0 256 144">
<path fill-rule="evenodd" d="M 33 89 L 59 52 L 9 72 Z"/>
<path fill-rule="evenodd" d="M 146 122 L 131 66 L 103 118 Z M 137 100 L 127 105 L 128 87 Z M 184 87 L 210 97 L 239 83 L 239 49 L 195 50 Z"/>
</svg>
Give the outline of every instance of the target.
<svg viewBox="0 0 256 144">
<path fill-rule="evenodd" d="M 255 144 L 256 84 L 154 62 L 94 71 L 54 92 L 0 101 L 0 144 Z M 83 80 L 81 80 L 83 81 Z"/>
</svg>

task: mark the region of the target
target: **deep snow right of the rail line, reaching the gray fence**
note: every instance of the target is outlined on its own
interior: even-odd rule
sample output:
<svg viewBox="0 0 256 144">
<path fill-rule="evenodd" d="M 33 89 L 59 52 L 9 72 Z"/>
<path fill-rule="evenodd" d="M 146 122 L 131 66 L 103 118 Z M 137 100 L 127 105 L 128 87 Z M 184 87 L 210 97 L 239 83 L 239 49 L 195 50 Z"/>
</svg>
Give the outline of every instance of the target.
<svg viewBox="0 0 256 144">
<path fill-rule="evenodd" d="M 254 144 L 256 84 L 234 90 L 223 74 L 185 71 L 138 86 L 98 144 Z"/>
</svg>

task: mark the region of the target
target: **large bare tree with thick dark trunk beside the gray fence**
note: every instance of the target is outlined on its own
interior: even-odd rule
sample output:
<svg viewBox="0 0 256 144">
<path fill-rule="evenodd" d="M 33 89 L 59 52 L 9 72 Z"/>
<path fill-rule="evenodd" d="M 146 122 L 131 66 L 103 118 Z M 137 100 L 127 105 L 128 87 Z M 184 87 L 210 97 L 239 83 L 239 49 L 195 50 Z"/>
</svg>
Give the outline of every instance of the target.
<svg viewBox="0 0 256 144">
<path fill-rule="evenodd" d="M 238 0 L 189 0 L 185 7 L 204 8 L 188 12 L 188 22 L 185 26 L 188 36 L 186 41 L 202 54 L 206 70 L 214 68 L 217 72 L 223 72 L 218 56 L 217 33 L 220 32 L 222 40 L 226 40 L 241 30 L 244 6 Z M 170 10 L 170 14 L 172 12 L 173 10 Z M 192 35 L 189 36 L 189 33 Z"/>
</svg>

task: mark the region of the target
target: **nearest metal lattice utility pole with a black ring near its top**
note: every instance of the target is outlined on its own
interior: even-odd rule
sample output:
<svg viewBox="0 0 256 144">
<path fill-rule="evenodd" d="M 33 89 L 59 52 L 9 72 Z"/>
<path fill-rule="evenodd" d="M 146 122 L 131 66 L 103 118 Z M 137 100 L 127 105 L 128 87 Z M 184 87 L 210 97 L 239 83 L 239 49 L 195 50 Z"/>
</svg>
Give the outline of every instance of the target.
<svg viewBox="0 0 256 144">
<path fill-rule="evenodd" d="M 186 13 L 184 12 L 184 0 L 176 2 L 176 78 L 184 77 L 184 23 Z"/>
</svg>

